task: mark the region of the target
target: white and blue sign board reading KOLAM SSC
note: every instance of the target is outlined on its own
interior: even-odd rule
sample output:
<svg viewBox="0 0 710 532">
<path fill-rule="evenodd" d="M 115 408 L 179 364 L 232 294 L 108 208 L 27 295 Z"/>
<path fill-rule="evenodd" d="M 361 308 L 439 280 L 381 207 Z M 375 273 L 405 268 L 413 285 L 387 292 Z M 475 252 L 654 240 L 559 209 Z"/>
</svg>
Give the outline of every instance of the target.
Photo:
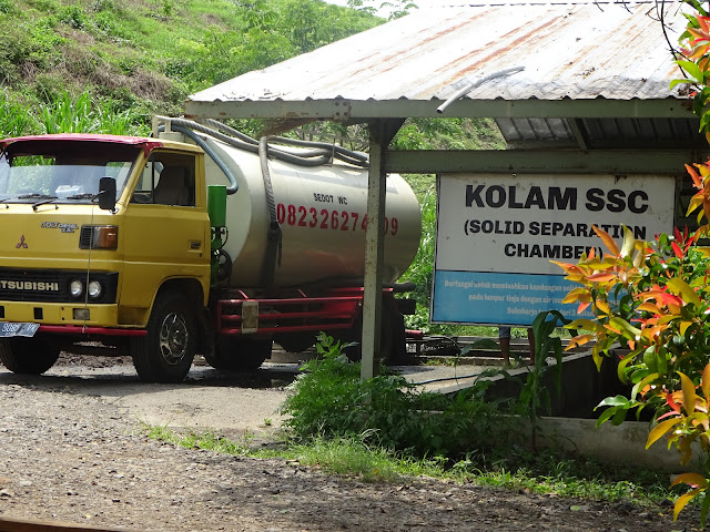
<svg viewBox="0 0 710 532">
<path fill-rule="evenodd" d="M 577 306 L 561 300 L 579 285 L 550 260 L 606 252 L 592 224 L 619 245 L 622 225 L 642 241 L 673 227 L 672 176 L 446 174 L 437 191 L 433 323 L 528 326 L 545 310 L 574 318 Z"/>
</svg>

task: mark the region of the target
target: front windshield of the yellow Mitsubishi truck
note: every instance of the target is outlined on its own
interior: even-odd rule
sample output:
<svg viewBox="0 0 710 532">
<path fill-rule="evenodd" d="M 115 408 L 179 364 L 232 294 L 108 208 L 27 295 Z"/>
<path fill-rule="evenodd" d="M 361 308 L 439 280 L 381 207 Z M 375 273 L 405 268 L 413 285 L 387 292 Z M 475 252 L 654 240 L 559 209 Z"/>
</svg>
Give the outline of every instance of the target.
<svg viewBox="0 0 710 532">
<path fill-rule="evenodd" d="M 0 202 L 91 203 L 101 177 L 121 196 L 140 146 L 75 140 L 17 141 L 0 154 Z"/>
</svg>

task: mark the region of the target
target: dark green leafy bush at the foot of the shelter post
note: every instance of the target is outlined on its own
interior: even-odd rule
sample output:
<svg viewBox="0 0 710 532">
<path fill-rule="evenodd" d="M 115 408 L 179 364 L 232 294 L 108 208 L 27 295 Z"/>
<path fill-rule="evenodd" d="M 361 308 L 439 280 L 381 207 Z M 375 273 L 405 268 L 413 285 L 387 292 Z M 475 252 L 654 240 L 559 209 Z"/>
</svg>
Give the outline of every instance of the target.
<svg viewBox="0 0 710 532">
<path fill-rule="evenodd" d="M 341 352 L 341 344 L 321 335 L 321 359 L 306 362 L 282 406 L 293 436 L 363 437 L 366 443 L 416 457 L 491 452 L 515 434 L 514 421 L 479 389 L 455 398 L 424 392 L 404 377 L 382 368 L 361 381 L 359 364 Z"/>
</svg>

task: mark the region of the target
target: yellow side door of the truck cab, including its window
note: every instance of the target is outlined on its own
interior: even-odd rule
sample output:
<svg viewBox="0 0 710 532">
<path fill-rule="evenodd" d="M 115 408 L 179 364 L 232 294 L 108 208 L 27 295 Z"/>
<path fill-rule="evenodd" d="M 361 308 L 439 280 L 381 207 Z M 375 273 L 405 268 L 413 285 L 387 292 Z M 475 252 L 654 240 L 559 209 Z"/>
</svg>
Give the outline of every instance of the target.
<svg viewBox="0 0 710 532">
<path fill-rule="evenodd" d="M 151 154 L 125 211 L 121 307 L 149 308 L 169 278 L 209 278 L 210 222 L 195 201 L 195 171 L 192 154 Z"/>
</svg>

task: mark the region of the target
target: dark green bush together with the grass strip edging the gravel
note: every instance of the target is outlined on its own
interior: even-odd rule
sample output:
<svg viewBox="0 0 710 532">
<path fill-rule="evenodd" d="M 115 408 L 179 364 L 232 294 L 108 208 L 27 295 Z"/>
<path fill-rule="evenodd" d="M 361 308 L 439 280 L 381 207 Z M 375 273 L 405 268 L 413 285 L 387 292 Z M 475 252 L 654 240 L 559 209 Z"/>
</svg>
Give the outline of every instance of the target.
<svg viewBox="0 0 710 532">
<path fill-rule="evenodd" d="M 359 381 L 359 365 L 321 337 L 322 360 L 308 362 L 283 406 L 291 416 L 275 446 L 234 442 L 213 431 L 179 433 L 144 426 L 149 438 L 187 449 L 278 458 L 363 481 L 427 475 L 600 501 L 659 504 L 674 497 L 667 474 L 600 463 L 520 444 L 510 403 L 485 402 L 485 386 L 445 398 L 383 372 Z"/>
</svg>

